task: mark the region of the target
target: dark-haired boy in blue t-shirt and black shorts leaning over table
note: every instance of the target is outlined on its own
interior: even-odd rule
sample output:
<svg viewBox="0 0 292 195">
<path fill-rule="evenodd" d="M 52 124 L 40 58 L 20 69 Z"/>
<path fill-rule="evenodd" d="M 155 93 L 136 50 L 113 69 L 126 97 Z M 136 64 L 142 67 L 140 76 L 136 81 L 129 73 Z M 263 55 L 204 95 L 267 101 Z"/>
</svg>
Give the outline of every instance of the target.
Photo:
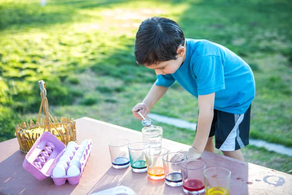
<svg viewBox="0 0 292 195">
<path fill-rule="evenodd" d="M 225 156 L 244 160 L 240 148 L 249 144 L 251 103 L 255 79 L 250 66 L 235 53 L 208 40 L 185 39 L 173 20 L 153 17 L 139 26 L 135 40 L 138 64 L 155 70 L 157 80 L 133 115 L 147 117 L 151 107 L 177 81 L 198 98 L 197 133 L 188 158 L 201 157 L 215 147 Z"/>
</svg>

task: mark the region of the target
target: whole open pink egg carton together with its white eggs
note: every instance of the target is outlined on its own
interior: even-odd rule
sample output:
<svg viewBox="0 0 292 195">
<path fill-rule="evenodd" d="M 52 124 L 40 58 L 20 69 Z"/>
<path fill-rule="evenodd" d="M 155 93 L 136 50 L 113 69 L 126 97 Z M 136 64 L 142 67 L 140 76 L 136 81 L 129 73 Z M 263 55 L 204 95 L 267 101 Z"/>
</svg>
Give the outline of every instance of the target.
<svg viewBox="0 0 292 195">
<path fill-rule="evenodd" d="M 22 166 L 38 180 L 51 176 L 55 185 L 63 185 L 66 180 L 75 185 L 80 182 L 91 148 L 91 139 L 84 140 L 80 146 L 69 142 L 66 148 L 58 138 L 45 132 L 25 156 Z M 65 173 L 60 167 L 64 167 Z"/>
</svg>

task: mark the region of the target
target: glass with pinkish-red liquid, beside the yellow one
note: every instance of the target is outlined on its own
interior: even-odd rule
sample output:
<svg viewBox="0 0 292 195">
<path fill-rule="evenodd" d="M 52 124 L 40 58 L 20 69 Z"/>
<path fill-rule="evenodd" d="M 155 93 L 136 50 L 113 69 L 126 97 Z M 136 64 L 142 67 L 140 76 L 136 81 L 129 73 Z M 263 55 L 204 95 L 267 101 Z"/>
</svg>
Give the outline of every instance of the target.
<svg viewBox="0 0 292 195">
<path fill-rule="evenodd" d="M 183 192 L 188 195 L 201 195 L 205 192 L 203 171 L 206 163 L 202 160 L 183 160 L 181 171 L 183 177 Z"/>
</svg>

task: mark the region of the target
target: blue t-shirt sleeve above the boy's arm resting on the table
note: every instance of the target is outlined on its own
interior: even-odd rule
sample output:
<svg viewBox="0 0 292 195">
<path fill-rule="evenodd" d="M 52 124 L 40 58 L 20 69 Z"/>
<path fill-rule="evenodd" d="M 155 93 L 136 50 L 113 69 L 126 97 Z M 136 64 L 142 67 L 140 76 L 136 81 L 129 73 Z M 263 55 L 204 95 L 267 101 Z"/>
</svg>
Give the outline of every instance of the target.
<svg viewBox="0 0 292 195">
<path fill-rule="evenodd" d="M 208 95 L 225 89 L 222 59 L 206 56 L 193 63 L 193 73 L 197 79 L 198 95 Z"/>
</svg>

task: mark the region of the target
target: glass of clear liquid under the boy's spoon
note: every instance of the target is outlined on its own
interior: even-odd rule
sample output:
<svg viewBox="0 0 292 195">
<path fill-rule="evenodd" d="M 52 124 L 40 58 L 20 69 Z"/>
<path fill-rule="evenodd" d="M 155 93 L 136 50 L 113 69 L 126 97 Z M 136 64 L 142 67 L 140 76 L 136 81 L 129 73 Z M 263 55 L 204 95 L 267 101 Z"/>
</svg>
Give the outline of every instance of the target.
<svg viewBox="0 0 292 195">
<path fill-rule="evenodd" d="M 151 148 L 161 148 L 163 129 L 160 126 L 151 125 L 142 129 L 143 141 L 151 145 Z"/>
</svg>

